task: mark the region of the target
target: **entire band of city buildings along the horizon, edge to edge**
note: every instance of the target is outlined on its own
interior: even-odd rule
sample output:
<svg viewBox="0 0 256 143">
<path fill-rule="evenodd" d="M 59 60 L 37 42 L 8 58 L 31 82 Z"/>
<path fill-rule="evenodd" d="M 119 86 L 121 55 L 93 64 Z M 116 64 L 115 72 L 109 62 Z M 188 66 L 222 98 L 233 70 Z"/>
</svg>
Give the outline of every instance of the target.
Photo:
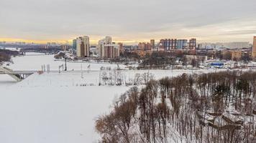
<svg viewBox="0 0 256 143">
<path fill-rule="evenodd" d="M 47 42 L 46 44 L 26 43 L 23 41 L 6 42 L 0 41 L 1 47 L 15 46 L 19 48 L 45 48 L 60 49 L 63 51 L 70 51 L 76 55 L 78 59 L 97 57 L 99 59 L 119 59 L 120 55 L 137 54 L 140 57 L 151 55 L 153 52 L 168 52 L 172 56 L 191 55 L 187 59 L 202 56 L 204 59 L 227 59 L 240 60 L 250 58 L 256 61 L 256 36 L 253 37 L 253 43 L 236 41 L 223 43 L 200 43 L 197 44 L 195 38 L 193 39 L 150 39 L 149 42 L 139 42 L 137 45 L 127 46 L 122 43 L 115 43 L 111 36 L 106 36 L 100 39 L 96 45 L 90 44 L 89 36 L 79 36 L 73 39 L 72 46 L 68 44 L 59 44 L 56 42 Z M 72 47 L 70 49 L 70 47 Z M 124 55 L 125 54 L 125 55 Z M 219 56 L 219 55 L 220 56 Z M 214 56 L 217 55 L 217 56 Z"/>
</svg>

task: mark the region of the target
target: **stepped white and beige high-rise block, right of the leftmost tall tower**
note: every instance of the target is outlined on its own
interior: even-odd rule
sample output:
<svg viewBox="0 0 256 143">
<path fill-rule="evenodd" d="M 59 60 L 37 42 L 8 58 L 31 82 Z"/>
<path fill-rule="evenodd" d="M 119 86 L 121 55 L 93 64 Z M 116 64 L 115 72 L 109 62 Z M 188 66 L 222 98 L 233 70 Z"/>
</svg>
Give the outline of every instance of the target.
<svg viewBox="0 0 256 143">
<path fill-rule="evenodd" d="M 119 45 L 112 43 L 111 36 L 106 36 L 98 43 L 99 57 L 114 59 L 119 57 Z"/>
</svg>

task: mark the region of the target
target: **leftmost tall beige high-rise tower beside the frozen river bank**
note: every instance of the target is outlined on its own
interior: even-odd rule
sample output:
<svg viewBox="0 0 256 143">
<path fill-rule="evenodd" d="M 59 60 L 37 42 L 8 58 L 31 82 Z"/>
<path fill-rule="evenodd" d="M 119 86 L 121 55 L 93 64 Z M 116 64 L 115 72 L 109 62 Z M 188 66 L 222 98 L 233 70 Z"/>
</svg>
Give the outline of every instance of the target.
<svg viewBox="0 0 256 143">
<path fill-rule="evenodd" d="M 76 39 L 76 55 L 78 57 L 90 56 L 89 36 L 80 36 Z"/>
</svg>

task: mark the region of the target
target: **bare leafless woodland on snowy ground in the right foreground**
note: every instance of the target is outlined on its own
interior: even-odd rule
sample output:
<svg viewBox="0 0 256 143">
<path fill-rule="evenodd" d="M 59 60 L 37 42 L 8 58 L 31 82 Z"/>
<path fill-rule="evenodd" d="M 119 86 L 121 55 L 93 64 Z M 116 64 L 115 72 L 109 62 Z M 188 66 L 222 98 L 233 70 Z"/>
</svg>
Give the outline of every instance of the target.
<svg viewBox="0 0 256 143">
<path fill-rule="evenodd" d="M 256 72 L 151 79 L 96 120 L 101 142 L 256 142 Z"/>
</svg>

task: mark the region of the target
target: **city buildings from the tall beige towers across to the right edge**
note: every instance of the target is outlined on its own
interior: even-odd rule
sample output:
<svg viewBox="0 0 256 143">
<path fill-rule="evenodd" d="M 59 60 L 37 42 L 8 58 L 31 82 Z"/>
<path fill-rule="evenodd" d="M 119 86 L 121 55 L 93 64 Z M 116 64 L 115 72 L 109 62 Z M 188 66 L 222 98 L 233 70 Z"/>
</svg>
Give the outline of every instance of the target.
<svg viewBox="0 0 256 143">
<path fill-rule="evenodd" d="M 160 39 L 157 43 L 155 39 L 150 39 L 150 42 L 140 42 L 136 46 L 124 46 L 122 43 L 114 43 L 111 36 L 106 36 L 104 39 L 99 40 L 96 46 L 91 46 L 88 36 L 80 36 L 73 40 L 73 51 L 76 51 L 76 56 L 80 58 L 91 56 L 90 51 L 93 51 L 101 59 L 117 59 L 120 54 L 124 54 L 124 51 L 134 52 L 139 56 L 152 54 L 154 51 L 166 51 L 174 54 L 186 53 L 203 57 L 220 52 L 224 58 L 231 60 L 241 59 L 243 56 L 250 56 L 252 59 L 256 59 L 256 37 L 254 37 L 253 44 L 249 42 L 197 44 L 196 39 L 193 38 Z"/>
</svg>

